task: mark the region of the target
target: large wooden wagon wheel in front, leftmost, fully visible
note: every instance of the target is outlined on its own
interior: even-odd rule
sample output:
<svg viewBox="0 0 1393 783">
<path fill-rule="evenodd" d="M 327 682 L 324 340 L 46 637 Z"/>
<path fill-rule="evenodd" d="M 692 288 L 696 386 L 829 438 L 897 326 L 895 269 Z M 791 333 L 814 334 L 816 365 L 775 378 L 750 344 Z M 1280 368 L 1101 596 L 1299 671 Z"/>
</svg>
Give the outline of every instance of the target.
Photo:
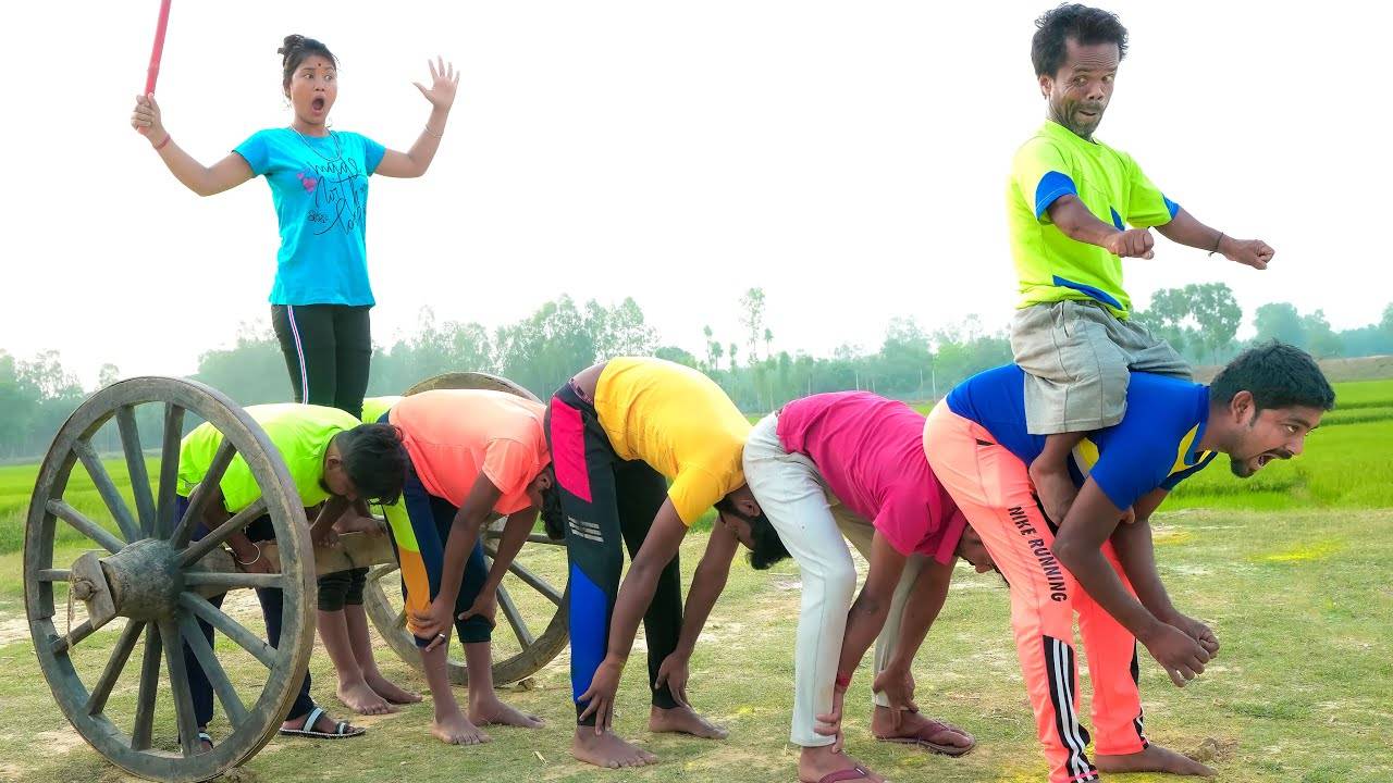
<svg viewBox="0 0 1393 783">
<path fill-rule="evenodd" d="M 153 493 L 137 426 L 141 405 L 159 407 L 164 415 Z M 178 451 L 187 412 L 212 422 L 223 436 L 206 482 L 217 482 L 238 458 L 249 465 L 262 492 L 252 507 L 192 543 L 192 522 L 201 514 L 202 493 L 194 495 L 185 514 L 177 514 Z M 134 513 L 92 443 L 92 436 L 113 417 L 131 476 Z M 114 524 L 103 525 L 98 521 L 103 514 L 89 515 L 64 499 L 77 463 L 82 463 Z M 270 515 L 280 543 L 280 573 L 228 573 L 221 543 L 262 514 Z M 100 560 L 98 553 L 89 552 L 71 568 L 54 567 L 60 521 L 81 532 L 84 545 L 102 548 Z M 74 729 L 111 763 L 152 780 L 206 780 L 259 751 L 276 734 L 295 699 L 315 638 L 313 561 L 304 510 L 290 474 L 245 411 L 221 393 L 191 380 L 135 378 L 111 385 L 82 403 L 59 429 L 33 488 L 24 541 L 24 598 L 39 666 Z M 68 595 L 56 605 L 54 585 L 63 582 L 67 582 Z M 284 591 L 279 648 L 269 646 L 203 598 L 248 587 Z M 74 598 L 84 600 L 88 609 L 86 620 L 77 626 L 71 626 Z M 125 619 L 118 635 L 111 630 L 118 624 L 111 623 L 116 617 Z M 251 690 L 247 687 L 238 692 L 199 633 L 199 619 L 210 623 L 220 638 L 251 653 L 255 672 L 251 679 L 240 680 L 251 683 L 255 694 L 247 694 Z M 100 631 L 107 623 L 111 628 Z M 93 639 L 88 646 L 96 646 L 96 638 L 109 641 L 113 635 L 117 638 L 104 665 L 100 651 L 93 649 L 96 658 L 82 653 L 84 639 Z M 199 752 L 189 673 L 182 655 L 185 641 L 212 681 L 227 720 L 226 727 L 215 729 L 219 737 L 206 754 Z M 116 702 L 127 702 L 130 688 L 117 685 L 137 646 L 142 648 L 139 685 L 134 715 L 127 722 L 117 713 Z M 78 658 L 81 662 L 75 662 Z M 167 688 L 162 687 L 162 665 Z M 98 674 L 92 677 L 93 673 Z"/>
</svg>

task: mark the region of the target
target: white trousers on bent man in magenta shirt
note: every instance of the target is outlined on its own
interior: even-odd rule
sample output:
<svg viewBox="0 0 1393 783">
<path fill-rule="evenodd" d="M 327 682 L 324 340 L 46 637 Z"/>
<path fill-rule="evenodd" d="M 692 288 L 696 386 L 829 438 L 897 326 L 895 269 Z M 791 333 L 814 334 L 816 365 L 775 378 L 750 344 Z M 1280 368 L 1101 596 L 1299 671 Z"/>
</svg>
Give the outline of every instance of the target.
<svg viewBox="0 0 1393 783">
<path fill-rule="evenodd" d="M 841 658 L 847 612 L 857 589 L 851 550 L 841 536 L 846 534 L 861 556 L 869 560 L 875 528 L 827 490 L 812 460 L 784 450 L 777 426 L 777 414 L 770 414 L 751 431 L 745 442 L 745 481 L 759 509 L 779 531 L 788 555 L 798 563 L 802 578 L 790 738 L 802 747 L 830 745 L 834 737 L 818 734 L 814 726 L 818 715 L 832 711 L 832 688 Z M 904 602 L 924 564 L 922 556 L 912 556 L 904 564 L 890 614 L 876 638 L 875 674 L 890 662 L 900 637 Z M 879 694 L 875 699 L 880 706 L 887 705 Z"/>
</svg>

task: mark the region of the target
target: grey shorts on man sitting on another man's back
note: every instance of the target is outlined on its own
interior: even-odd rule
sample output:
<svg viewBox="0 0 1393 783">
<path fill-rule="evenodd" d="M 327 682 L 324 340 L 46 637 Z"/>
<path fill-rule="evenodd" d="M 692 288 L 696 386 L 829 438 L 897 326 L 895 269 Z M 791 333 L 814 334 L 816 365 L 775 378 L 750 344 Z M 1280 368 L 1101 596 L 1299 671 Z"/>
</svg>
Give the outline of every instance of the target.
<svg viewBox="0 0 1393 783">
<path fill-rule="evenodd" d="M 1015 311 L 1011 352 L 1027 373 L 1031 435 L 1092 432 L 1120 422 L 1133 372 L 1191 376 L 1190 364 L 1145 326 L 1084 301 Z"/>
</svg>

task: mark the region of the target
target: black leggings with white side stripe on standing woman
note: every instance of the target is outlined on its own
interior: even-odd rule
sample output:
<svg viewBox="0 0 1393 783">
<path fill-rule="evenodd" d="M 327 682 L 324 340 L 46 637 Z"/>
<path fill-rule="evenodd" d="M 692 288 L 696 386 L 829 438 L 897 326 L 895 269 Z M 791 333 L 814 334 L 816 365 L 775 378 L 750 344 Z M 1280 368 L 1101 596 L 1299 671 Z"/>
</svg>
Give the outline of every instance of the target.
<svg viewBox="0 0 1393 783">
<path fill-rule="evenodd" d="M 369 308 L 272 305 L 270 323 L 286 355 L 297 403 L 340 408 L 362 418 L 372 365 Z"/>
</svg>

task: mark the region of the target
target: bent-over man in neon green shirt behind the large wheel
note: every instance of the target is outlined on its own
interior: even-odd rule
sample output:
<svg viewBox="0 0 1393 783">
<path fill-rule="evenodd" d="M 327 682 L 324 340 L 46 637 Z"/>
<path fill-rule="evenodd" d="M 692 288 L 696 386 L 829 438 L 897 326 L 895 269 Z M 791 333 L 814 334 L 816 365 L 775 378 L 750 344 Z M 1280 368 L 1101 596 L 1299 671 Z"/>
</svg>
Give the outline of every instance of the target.
<svg viewBox="0 0 1393 783">
<path fill-rule="evenodd" d="M 366 517 L 368 503 L 393 503 L 401 495 L 401 486 L 405 482 L 407 451 L 394 426 L 361 424 L 338 408 L 295 403 L 251 405 L 247 412 L 260 425 L 272 446 L 280 453 L 301 504 L 306 509 L 323 504 L 311 528 L 311 535 L 316 542 L 329 536 L 330 529 L 345 532 L 350 528 L 344 524 L 350 524 L 358 517 Z M 202 518 L 194 520 L 194 539 L 217 529 L 235 513 L 260 499 L 256 478 L 241 454 L 233 457 L 216 486 L 199 486 L 221 443 L 223 435 L 213 425 L 203 424 L 184 436 L 180 444 L 178 495 L 181 507 L 188 507 L 189 497 L 195 490 L 212 493 L 203 504 Z M 350 513 L 350 509 L 357 509 L 357 514 Z M 182 510 L 180 514 L 182 515 Z M 274 531 L 270 517 L 263 515 L 249 522 L 242 531 L 228 536 L 227 545 L 242 570 L 267 573 L 273 564 L 262 556 L 258 542 L 272 538 L 274 538 Z M 258 588 L 256 598 L 262 605 L 267 641 L 276 646 L 280 644 L 281 591 Z M 221 599 L 223 596 L 215 596 L 210 602 L 216 606 L 221 603 Z M 320 627 L 325 626 L 325 614 L 327 613 L 319 612 Z M 343 610 L 340 609 L 337 614 L 341 617 Z M 212 644 L 213 627 L 202 620 L 199 620 L 199 626 Z M 198 658 L 187 644 L 184 645 L 184 662 L 189 673 L 199 740 L 210 748 L 213 741 L 208 734 L 208 722 L 213 716 L 213 688 L 199 666 Z M 336 666 L 337 663 L 336 660 Z M 341 690 L 340 697 L 343 697 Z M 386 702 L 383 702 L 382 711 L 387 709 Z M 345 722 L 332 720 L 322 708 L 315 706 L 309 698 L 309 673 L 305 673 L 299 695 L 280 730 L 283 734 L 311 737 L 347 737 L 364 731 Z"/>
</svg>

